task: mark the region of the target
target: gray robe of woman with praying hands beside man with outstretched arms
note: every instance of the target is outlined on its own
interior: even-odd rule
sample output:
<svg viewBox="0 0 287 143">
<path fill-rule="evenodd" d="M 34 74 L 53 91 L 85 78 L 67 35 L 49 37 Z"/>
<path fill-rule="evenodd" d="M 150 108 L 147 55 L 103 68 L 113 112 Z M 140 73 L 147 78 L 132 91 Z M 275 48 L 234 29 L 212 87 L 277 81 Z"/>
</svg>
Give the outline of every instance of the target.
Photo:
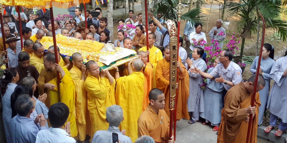
<svg viewBox="0 0 287 143">
<path fill-rule="evenodd" d="M 206 63 L 202 58 L 198 60 L 194 60 L 193 58 L 191 58 L 190 60 L 192 60 L 193 63 L 193 66 L 190 68 L 194 68 L 194 66 L 196 66 L 199 70 L 203 72 L 207 69 Z M 201 78 L 201 75 L 199 73 L 190 73 L 190 71 L 188 71 L 188 74 L 190 90 L 189 97 L 187 99 L 187 110 L 188 112 L 194 111 L 194 108 L 196 106 L 196 96 L 197 93 L 200 92 L 199 90 L 201 90 L 200 103 L 197 103 L 197 105 L 200 105 L 200 112 L 204 112 L 203 91 L 200 88 L 201 84 L 203 83 L 203 79 Z"/>
</svg>

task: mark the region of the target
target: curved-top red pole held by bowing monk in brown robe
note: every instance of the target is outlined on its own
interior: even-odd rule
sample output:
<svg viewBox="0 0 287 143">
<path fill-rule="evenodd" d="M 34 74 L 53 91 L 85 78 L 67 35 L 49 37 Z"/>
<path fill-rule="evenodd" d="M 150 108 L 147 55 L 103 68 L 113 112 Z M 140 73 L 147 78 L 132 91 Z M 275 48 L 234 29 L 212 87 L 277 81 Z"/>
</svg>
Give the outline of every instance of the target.
<svg viewBox="0 0 287 143">
<path fill-rule="evenodd" d="M 257 69 L 260 67 L 261 56 L 262 56 L 262 49 L 263 49 L 264 37 L 265 37 L 265 21 L 264 21 L 263 16 L 260 13 L 259 13 L 259 15 L 261 16 L 261 19 L 262 19 L 262 22 L 263 22 L 263 28 L 262 28 L 262 38 L 261 38 L 261 49 L 260 49 L 260 54 L 259 54 L 259 58 L 258 58 Z M 251 98 L 251 107 L 254 107 L 258 76 L 259 76 L 259 70 L 256 70 L 254 89 L 253 89 L 253 94 L 252 94 L 252 98 Z M 251 126 L 252 126 L 252 114 L 249 115 L 249 123 L 248 123 L 246 143 L 249 143 L 249 140 L 250 140 Z"/>
</svg>

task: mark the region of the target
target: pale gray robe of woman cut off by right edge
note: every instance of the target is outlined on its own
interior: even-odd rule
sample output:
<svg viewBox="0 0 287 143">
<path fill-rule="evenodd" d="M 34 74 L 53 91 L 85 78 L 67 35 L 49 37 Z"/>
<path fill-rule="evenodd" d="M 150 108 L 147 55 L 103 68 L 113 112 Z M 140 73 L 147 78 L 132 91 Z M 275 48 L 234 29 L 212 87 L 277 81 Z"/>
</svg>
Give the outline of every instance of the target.
<svg viewBox="0 0 287 143">
<path fill-rule="evenodd" d="M 287 69 L 287 56 L 276 60 L 270 77 L 275 81 L 270 91 L 267 107 L 275 116 L 287 123 L 287 76 L 282 76 Z"/>
</svg>

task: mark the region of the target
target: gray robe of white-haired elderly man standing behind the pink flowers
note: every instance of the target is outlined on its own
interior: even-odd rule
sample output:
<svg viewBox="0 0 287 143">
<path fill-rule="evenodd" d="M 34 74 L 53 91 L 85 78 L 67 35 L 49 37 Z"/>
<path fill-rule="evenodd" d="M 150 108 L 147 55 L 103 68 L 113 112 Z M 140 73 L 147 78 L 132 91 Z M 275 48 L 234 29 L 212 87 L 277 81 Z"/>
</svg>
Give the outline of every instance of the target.
<svg viewBox="0 0 287 143">
<path fill-rule="evenodd" d="M 214 30 L 217 30 L 217 34 L 214 35 Z M 224 32 L 224 36 L 220 36 L 218 35 L 221 31 Z M 213 29 L 210 30 L 210 32 L 208 33 L 210 39 L 214 39 L 214 40 L 217 40 L 217 42 L 219 43 L 217 46 L 213 46 L 213 44 L 211 44 L 210 46 L 213 46 L 213 50 L 215 50 L 216 47 L 220 47 L 222 48 L 223 46 L 223 40 L 225 39 L 225 36 L 226 36 L 226 32 L 225 32 L 225 29 L 221 26 L 220 28 L 217 29 L 217 27 L 214 27 Z"/>
</svg>

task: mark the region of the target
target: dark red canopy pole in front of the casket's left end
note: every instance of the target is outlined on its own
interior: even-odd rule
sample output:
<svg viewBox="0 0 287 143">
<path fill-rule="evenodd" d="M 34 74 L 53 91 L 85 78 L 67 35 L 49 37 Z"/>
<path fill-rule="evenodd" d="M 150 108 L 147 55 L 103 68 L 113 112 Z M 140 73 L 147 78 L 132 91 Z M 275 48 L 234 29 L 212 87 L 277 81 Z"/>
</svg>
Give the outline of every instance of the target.
<svg viewBox="0 0 287 143">
<path fill-rule="evenodd" d="M 59 64 L 58 54 L 57 54 L 57 43 L 56 43 L 56 31 L 55 31 L 55 23 L 54 23 L 54 15 L 53 15 L 53 6 L 50 3 L 50 15 L 51 15 L 51 26 L 52 26 L 52 33 L 53 33 L 53 43 L 54 43 L 54 52 L 55 52 L 55 60 L 56 64 Z M 57 71 L 57 80 L 58 85 L 60 84 L 60 73 Z M 60 88 L 59 88 L 60 90 Z M 60 93 L 60 92 L 59 92 Z"/>
</svg>

